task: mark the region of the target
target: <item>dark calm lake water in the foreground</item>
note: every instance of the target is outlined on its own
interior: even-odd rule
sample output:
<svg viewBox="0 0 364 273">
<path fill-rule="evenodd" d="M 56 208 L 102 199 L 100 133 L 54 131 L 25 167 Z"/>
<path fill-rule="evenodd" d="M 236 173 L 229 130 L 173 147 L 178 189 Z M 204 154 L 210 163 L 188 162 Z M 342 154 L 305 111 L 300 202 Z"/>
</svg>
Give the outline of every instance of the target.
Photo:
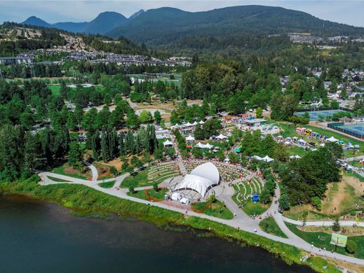
<svg viewBox="0 0 364 273">
<path fill-rule="evenodd" d="M 257 247 L 0 195 L 0 272 L 312 272 Z"/>
</svg>

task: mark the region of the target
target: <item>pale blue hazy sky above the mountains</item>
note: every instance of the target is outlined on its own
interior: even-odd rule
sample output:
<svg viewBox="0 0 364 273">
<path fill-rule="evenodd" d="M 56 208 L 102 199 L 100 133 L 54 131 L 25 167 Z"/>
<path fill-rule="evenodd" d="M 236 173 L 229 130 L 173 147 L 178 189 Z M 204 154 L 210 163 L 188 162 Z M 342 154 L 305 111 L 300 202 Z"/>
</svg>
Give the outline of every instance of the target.
<svg viewBox="0 0 364 273">
<path fill-rule="evenodd" d="M 342 22 L 349 25 L 364 27 L 364 1 L 314 1 L 314 0 L 265 0 L 265 1 L 223 1 L 223 0 L 200 0 L 200 1 L 1 1 L 0 0 L 0 22 L 13 21 L 22 22 L 31 15 L 35 15 L 47 22 L 83 22 L 90 21 L 102 11 L 116 11 L 129 17 L 135 11 L 143 8 L 160 8 L 170 6 L 188 11 L 211 10 L 226 6 L 241 5 L 265 5 L 282 6 L 302 10 L 318 18 L 334 22 Z"/>
</svg>

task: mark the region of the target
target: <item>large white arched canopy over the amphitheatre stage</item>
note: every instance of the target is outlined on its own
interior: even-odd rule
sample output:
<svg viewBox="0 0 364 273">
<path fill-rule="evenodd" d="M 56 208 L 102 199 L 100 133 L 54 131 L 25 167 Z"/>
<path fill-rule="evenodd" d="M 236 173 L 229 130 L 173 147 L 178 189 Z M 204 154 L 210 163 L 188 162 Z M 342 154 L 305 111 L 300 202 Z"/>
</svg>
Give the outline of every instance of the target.
<svg viewBox="0 0 364 273">
<path fill-rule="evenodd" d="M 184 179 L 177 184 L 175 190 L 193 190 L 205 197 L 210 188 L 220 183 L 220 174 L 213 163 L 208 162 L 196 167 L 191 174 L 184 176 Z"/>
</svg>

